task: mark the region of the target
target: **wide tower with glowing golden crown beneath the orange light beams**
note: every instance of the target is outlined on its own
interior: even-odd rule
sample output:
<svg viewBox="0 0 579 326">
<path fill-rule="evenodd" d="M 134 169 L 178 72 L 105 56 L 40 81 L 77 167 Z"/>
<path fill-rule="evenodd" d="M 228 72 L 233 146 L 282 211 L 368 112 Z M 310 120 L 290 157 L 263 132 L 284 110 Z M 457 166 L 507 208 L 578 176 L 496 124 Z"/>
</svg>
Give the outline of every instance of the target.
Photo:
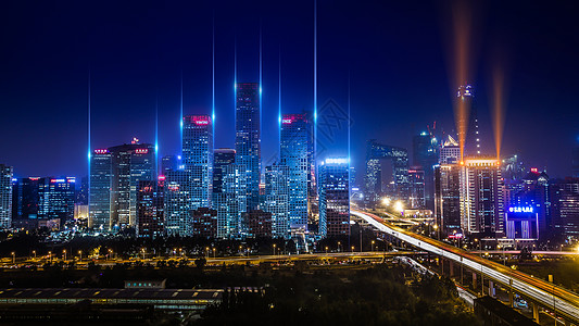
<svg viewBox="0 0 579 326">
<path fill-rule="evenodd" d="M 496 159 L 465 159 L 461 167 L 461 226 L 480 238 L 504 236 L 504 183 Z"/>
</svg>

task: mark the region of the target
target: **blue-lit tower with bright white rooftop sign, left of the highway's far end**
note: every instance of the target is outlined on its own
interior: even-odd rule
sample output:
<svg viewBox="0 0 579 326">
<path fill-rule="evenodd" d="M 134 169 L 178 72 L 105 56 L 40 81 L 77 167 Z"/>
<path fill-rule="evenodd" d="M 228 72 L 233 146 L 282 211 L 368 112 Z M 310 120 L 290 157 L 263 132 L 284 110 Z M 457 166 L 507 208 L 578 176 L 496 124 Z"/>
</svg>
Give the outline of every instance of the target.
<svg viewBox="0 0 579 326">
<path fill-rule="evenodd" d="M 326 159 L 319 166 L 319 234 L 350 235 L 350 164 L 348 159 Z"/>
</svg>

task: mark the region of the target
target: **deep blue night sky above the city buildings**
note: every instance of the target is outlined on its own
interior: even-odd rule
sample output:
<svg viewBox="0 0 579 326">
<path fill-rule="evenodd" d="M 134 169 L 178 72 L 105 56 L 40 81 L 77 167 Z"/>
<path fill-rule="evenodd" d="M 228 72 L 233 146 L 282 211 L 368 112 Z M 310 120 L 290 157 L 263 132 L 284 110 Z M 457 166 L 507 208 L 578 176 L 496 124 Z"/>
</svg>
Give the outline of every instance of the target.
<svg viewBox="0 0 579 326">
<path fill-rule="evenodd" d="M 318 0 L 318 110 L 326 124 L 319 159 L 348 154 L 349 84 L 351 156 L 361 172 L 369 138 L 411 149 L 412 136 L 435 121 L 439 130 L 454 130 L 452 5 Z M 473 8 L 469 82 L 483 147 L 494 154 L 490 72 L 500 61 L 507 80 L 502 153 L 518 153 L 528 167 L 557 177 L 570 174 L 579 141 L 572 5 L 489 1 Z M 133 137 L 154 142 L 158 105 L 160 155 L 177 153 L 181 72 L 185 113 L 211 113 L 213 22 L 215 145 L 234 147 L 235 49 L 237 80 L 259 82 L 262 30 L 262 156 L 270 163 L 278 146 L 279 62 L 281 111 L 313 106 L 313 9 L 301 0 L 3 1 L 0 163 L 20 177 L 87 175 L 89 71 L 93 149 Z"/>
</svg>

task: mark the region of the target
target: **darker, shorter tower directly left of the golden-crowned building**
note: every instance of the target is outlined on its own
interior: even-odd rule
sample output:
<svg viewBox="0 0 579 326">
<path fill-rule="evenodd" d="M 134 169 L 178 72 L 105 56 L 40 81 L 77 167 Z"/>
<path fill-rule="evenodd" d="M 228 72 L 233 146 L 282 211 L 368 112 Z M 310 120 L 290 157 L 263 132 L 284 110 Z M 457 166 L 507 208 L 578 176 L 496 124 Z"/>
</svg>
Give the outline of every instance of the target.
<svg viewBox="0 0 579 326">
<path fill-rule="evenodd" d="M 444 235 L 461 234 L 461 165 L 435 167 L 435 218 Z"/>
</svg>

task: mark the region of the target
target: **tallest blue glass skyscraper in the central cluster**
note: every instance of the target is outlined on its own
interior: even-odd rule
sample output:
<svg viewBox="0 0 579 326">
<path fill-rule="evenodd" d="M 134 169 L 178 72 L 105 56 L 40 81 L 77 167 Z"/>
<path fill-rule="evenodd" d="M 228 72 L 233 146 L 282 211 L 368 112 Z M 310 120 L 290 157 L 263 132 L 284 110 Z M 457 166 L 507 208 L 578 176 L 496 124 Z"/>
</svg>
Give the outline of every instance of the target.
<svg viewBox="0 0 579 326">
<path fill-rule="evenodd" d="M 247 168 L 248 211 L 260 203 L 261 86 L 236 84 L 236 163 Z"/>
</svg>

